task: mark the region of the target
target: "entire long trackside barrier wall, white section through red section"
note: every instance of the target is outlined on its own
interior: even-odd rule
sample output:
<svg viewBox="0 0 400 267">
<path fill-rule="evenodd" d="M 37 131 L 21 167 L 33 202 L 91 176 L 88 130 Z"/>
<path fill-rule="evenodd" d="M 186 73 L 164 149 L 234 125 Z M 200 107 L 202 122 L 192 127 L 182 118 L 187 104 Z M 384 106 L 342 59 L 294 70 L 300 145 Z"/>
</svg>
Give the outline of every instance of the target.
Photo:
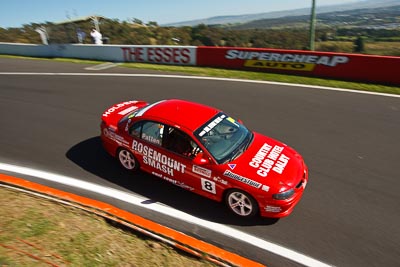
<svg viewBox="0 0 400 267">
<path fill-rule="evenodd" d="M 400 85 L 400 57 L 208 46 L 0 43 L 0 54 L 218 67 Z"/>
</svg>

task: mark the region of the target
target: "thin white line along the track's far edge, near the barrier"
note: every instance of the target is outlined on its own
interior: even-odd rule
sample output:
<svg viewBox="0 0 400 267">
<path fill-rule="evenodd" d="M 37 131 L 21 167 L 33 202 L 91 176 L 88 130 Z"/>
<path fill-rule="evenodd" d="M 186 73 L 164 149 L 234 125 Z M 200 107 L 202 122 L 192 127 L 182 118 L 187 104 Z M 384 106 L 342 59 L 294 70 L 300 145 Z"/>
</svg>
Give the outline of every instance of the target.
<svg viewBox="0 0 400 267">
<path fill-rule="evenodd" d="M 244 80 L 244 79 L 228 79 L 228 78 L 215 78 L 215 77 L 200 77 L 200 76 L 185 76 L 185 75 L 159 75 L 159 74 L 125 74 L 125 73 L 69 73 L 69 72 L 0 72 L 0 75 L 31 75 L 31 76 L 105 76 L 105 77 L 151 77 L 151 78 L 176 78 L 176 79 L 196 79 L 196 80 L 217 80 L 217 81 L 228 81 L 228 82 L 244 82 L 244 83 L 259 83 L 259 84 L 273 84 L 273 85 L 284 85 L 290 87 L 302 87 L 312 88 L 318 90 L 329 90 L 338 92 L 348 92 L 365 95 L 376 95 L 376 96 L 387 96 L 400 98 L 400 95 L 376 93 L 361 90 L 351 90 L 345 88 L 334 88 L 327 86 L 317 85 L 306 85 L 306 84 L 294 84 L 294 83 L 281 83 L 281 82 L 269 82 L 269 81 L 255 81 L 255 80 Z"/>
</svg>

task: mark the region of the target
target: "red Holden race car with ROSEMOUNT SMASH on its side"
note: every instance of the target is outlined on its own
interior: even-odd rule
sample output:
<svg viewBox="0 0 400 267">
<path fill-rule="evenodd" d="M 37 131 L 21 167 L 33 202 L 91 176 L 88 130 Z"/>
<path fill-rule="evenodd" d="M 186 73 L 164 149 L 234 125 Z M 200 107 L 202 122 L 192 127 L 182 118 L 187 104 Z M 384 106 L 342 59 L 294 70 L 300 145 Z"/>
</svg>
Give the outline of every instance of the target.
<svg viewBox="0 0 400 267">
<path fill-rule="evenodd" d="M 101 140 L 125 169 L 224 202 L 241 217 L 289 215 L 308 181 L 302 156 L 289 146 L 184 100 L 111 106 L 102 114 Z"/>
</svg>

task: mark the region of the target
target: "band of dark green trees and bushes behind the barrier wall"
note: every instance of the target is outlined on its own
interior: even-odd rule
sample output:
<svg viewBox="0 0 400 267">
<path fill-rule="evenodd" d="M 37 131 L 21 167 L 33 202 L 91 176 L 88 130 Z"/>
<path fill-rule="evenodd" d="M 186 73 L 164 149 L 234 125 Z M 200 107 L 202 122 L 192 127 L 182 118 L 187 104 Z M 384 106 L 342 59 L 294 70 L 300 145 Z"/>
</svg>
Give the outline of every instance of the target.
<svg viewBox="0 0 400 267">
<path fill-rule="evenodd" d="M 28 24 L 20 28 L 0 28 L 0 42 L 40 44 L 41 38 L 36 32 L 44 26 L 49 36 L 49 43 L 77 43 L 77 31 L 86 33 L 84 43 L 92 43 L 91 21 L 66 24 Z M 233 25 L 204 25 L 194 27 L 162 27 L 156 22 L 143 23 L 138 19 L 119 21 L 102 19 L 100 30 L 105 43 L 124 45 L 183 45 L 183 46 L 231 46 L 252 48 L 300 49 L 308 47 L 308 31 L 306 28 L 278 29 L 236 29 Z M 364 39 L 398 41 L 400 30 L 320 28 L 316 32 L 316 40 L 320 42 L 332 40 L 354 41 L 354 52 L 363 47 Z M 319 50 L 324 50 L 321 48 Z M 329 51 L 329 49 L 328 49 Z M 340 52 L 340 51 L 332 51 Z"/>
</svg>

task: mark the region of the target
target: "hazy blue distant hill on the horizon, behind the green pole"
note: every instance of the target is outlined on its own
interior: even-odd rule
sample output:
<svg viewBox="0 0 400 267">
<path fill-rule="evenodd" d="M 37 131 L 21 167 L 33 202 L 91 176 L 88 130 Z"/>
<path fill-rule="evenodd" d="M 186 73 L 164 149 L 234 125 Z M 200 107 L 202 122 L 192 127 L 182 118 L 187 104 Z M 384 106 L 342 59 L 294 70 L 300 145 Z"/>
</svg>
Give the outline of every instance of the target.
<svg viewBox="0 0 400 267">
<path fill-rule="evenodd" d="M 311 4 L 310 4 L 311 5 Z M 340 5 L 330 5 L 330 6 L 317 6 L 317 13 L 331 13 L 338 11 L 348 11 L 355 9 L 373 9 L 400 5 L 400 0 L 355 0 L 353 3 L 340 4 Z M 311 6 L 310 6 L 311 8 Z M 261 19 L 275 19 L 282 17 L 292 17 L 292 16 L 304 16 L 310 14 L 310 8 L 301 8 L 293 10 L 257 13 L 257 14 L 245 14 L 245 15 L 233 15 L 233 16 L 217 16 L 199 20 L 183 21 L 176 23 L 164 24 L 162 26 L 196 26 L 199 24 L 206 25 L 217 25 L 217 24 L 240 24 L 246 23 L 254 20 Z"/>
</svg>

